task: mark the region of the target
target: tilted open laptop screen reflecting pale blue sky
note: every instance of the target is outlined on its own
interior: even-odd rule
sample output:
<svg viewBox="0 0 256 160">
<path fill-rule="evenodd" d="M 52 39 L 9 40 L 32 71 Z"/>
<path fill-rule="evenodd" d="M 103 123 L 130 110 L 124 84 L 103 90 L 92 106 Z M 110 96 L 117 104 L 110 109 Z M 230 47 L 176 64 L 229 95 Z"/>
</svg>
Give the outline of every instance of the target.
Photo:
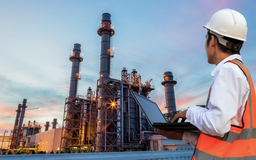
<svg viewBox="0 0 256 160">
<path fill-rule="evenodd" d="M 153 123 L 167 123 L 162 112 L 158 108 L 155 102 L 149 100 L 144 96 L 140 96 L 138 93 L 132 92 L 135 100 L 143 111 L 144 115 L 147 117 L 150 124 Z"/>
</svg>

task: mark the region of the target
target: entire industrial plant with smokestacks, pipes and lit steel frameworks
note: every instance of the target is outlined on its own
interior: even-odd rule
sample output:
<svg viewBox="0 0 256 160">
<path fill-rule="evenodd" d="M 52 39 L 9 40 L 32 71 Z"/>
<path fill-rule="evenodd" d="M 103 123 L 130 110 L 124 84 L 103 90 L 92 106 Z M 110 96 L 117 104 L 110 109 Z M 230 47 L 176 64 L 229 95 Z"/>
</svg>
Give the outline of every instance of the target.
<svg viewBox="0 0 256 160">
<path fill-rule="evenodd" d="M 130 92 L 137 92 L 150 98 L 149 93 L 155 89 L 155 86 L 150 84 L 152 79 L 142 83 L 136 69 L 128 72 L 126 68 L 121 70 L 120 79 L 112 77 L 115 28 L 111 26 L 109 13 L 102 14 L 97 33 L 101 36 L 101 48 L 96 91 L 89 87 L 85 97 L 78 95 L 81 62 L 84 57 L 81 54 L 81 45 L 74 44 L 73 52 L 69 56 L 72 68 L 62 127 L 56 128 L 58 124 L 56 118 L 52 121 L 52 130 L 49 130 L 49 121 L 44 124 L 44 132 L 41 132 L 42 126 L 36 121 L 33 124 L 29 121 L 28 125 L 22 126 L 25 110 L 28 107 L 27 99 L 24 99 L 16 110 L 14 128 L 9 136 L 10 149 L 20 145 L 23 147 L 26 144 L 30 145 L 29 141 L 33 141 L 30 140 L 33 135 L 36 137 L 31 144 L 36 143 L 39 149 L 47 150 L 48 153 L 51 150 L 77 153 L 166 149 L 166 147 L 152 148 L 152 145 L 156 147 L 160 142 L 156 143 L 156 139 L 163 138 L 150 126 Z M 161 84 L 165 89 L 165 108 L 167 108 L 164 116 L 171 120 L 172 116 L 179 112 L 176 111 L 174 95 L 174 85 L 177 84 L 177 80 L 173 78 L 172 72 L 165 72 Z M 48 138 L 45 139 L 47 136 Z M 47 143 L 48 147 L 44 143 Z M 42 144 L 43 146 L 40 146 Z M 185 142 L 180 144 L 187 145 Z"/>
</svg>

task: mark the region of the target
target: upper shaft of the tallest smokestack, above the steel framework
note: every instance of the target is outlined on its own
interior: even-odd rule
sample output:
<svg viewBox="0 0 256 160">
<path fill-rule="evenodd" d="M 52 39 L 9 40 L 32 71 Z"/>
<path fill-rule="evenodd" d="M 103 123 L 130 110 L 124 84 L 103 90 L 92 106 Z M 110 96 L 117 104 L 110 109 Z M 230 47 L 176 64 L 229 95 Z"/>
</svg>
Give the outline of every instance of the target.
<svg viewBox="0 0 256 160">
<path fill-rule="evenodd" d="M 100 46 L 100 78 L 109 77 L 110 75 L 110 37 L 115 34 L 115 30 L 111 27 L 111 15 L 103 13 L 101 19 L 101 26 L 97 30 L 98 35 L 101 36 Z"/>
</svg>

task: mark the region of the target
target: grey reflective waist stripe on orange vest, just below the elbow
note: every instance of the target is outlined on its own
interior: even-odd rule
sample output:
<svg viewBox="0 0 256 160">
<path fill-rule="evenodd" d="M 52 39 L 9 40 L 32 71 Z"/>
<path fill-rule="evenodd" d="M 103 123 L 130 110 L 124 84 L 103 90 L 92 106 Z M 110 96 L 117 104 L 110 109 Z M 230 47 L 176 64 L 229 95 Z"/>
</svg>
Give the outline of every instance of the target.
<svg viewBox="0 0 256 160">
<path fill-rule="evenodd" d="M 228 143 L 233 143 L 234 140 L 251 140 L 251 139 L 256 139 L 256 128 L 244 128 L 242 129 L 242 132 L 236 133 L 236 132 L 227 132 L 224 137 L 219 137 L 219 136 L 212 136 L 206 133 L 203 133 L 204 135 L 207 135 L 212 138 L 216 138 L 218 140 L 222 140 Z"/>
</svg>

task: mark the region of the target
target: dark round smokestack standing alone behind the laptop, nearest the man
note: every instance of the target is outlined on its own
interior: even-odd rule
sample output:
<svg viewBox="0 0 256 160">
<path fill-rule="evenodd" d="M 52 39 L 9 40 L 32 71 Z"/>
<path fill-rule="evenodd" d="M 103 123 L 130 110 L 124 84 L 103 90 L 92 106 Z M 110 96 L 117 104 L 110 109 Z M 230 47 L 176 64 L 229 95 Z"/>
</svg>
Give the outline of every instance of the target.
<svg viewBox="0 0 256 160">
<path fill-rule="evenodd" d="M 164 80 L 161 82 L 165 90 L 165 100 L 167 113 L 176 111 L 174 85 L 177 84 L 177 80 L 173 78 L 172 72 L 164 72 Z"/>
</svg>

